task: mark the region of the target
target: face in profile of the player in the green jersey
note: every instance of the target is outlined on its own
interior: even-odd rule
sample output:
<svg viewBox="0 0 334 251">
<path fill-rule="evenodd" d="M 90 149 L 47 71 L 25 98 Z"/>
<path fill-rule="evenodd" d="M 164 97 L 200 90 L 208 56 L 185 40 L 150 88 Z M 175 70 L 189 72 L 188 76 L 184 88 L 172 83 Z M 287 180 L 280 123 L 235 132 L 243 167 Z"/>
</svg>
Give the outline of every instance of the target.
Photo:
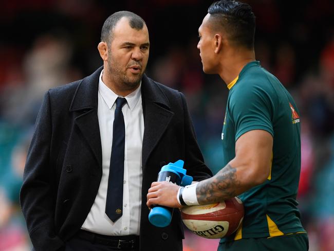
<svg viewBox="0 0 334 251">
<path fill-rule="evenodd" d="M 197 44 L 197 48 L 199 49 L 199 56 L 202 61 L 203 71 L 206 74 L 216 74 L 216 55 L 214 52 L 215 40 L 214 33 L 210 30 L 209 18 L 210 14 L 208 13 L 198 28 L 199 42 Z"/>
</svg>

